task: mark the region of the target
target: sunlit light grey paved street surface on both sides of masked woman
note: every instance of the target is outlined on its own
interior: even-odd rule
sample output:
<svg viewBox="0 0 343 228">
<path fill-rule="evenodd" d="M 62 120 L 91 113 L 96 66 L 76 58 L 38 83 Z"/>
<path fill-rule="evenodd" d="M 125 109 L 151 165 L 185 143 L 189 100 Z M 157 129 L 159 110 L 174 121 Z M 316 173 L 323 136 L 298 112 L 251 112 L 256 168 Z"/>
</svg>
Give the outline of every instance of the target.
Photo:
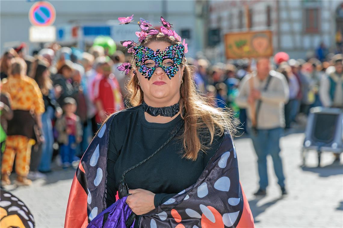
<svg viewBox="0 0 343 228">
<path fill-rule="evenodd" d="M 271 159 L 268 196 L 256 199 L 256 156 L 249 138 L 236 138 L 240 180 L 249 200 L 256 227 L 343 227 L 343 166 L 332 164 L 330 153 L 323 153 L 322 167 L 317 155 L 308 156 L 308 167 L 301 168 L 300 148 L 304 135 L 282 138 L 282 158 L 289 195 L 281 199 Z M 9 186 L 31 210 L 36 227 L 63 227 L 73 170 L 56 170 L 47 180 L 36 180 L 30 187 Z"/>
</svg>

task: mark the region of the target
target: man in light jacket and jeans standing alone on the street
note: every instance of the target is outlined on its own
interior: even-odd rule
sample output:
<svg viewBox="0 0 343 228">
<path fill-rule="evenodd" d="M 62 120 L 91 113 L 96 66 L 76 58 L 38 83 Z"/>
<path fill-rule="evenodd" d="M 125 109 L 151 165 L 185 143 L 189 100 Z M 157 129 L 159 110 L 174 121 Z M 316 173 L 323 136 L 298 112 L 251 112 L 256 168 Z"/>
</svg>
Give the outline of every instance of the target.
<svg viewBox="0 0 343 228">
<path fill-rule="evenodd" d="M 286 79 L 281 73 L 271 70 L 268 58 L 259 58 L 257 72 L 245 76 L 239 86 L 236 102 L 238 106 L 247 109 L 249 134 L 258 158 L 260 187 L 256 196 L 266 195 L 268 154 L 273 159 L 282 195 L 287 194 L 279 141 L 285 127 L 284 104 L 288 97 Z"/>
</svg>

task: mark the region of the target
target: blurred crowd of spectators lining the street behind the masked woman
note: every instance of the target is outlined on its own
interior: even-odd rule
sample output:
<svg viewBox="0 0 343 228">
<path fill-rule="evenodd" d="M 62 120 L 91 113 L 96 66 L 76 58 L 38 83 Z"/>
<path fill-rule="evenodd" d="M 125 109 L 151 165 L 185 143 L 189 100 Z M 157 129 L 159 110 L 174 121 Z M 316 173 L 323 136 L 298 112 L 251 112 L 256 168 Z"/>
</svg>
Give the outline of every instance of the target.
<svg viewBox="0 0 343 228">
<path fill-rule="evenodd" d="M 32 56 L 26 54 L 25 44 L 3 53 L 2 185 L 11 183 L 13 169 L 17 184 L 29 185 L 32 179 L 51 172 L 54 160 L 63 169 L 77 167 L 102 121 L 128 105 L 128 76 L 117 70 L 127 58 L 121 51 L 108 54 L 102 46 L 84 52 L 56 43 Z M 236 100 L 240 82 L 256 70 L 256 62 L 239 59 L 211 64 L 199 56 L 189 58 L 188 63 L 193 66 L 199 92 L 208 96 L 213 106 L 229 108 L 236 124 L 246 131 L 247 112 Z M 341 54 L 296 60 L 278 53 L 270 69 L 288 84 L 284 128 L 306 119 L 311 107 L 343 107 Z"/>
</svg>

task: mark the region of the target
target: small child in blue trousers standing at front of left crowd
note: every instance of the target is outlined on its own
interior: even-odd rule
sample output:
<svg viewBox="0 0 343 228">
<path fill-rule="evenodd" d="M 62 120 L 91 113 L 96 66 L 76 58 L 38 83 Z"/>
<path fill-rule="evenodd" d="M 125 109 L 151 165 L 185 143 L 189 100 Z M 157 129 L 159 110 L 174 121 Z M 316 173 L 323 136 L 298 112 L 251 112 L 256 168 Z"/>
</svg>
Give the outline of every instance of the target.
<svg viewBox="0 0 343 228">
<path fill-rule="evenodd" d="M 57 141 L 60 143 L 62 167 L 66 169 L 77 160 L 75 159 L 75 150 L 77 144 L 82 140 L 82 125 L 80 117 L 75 115 L 75 99 L 66 97 L 63 103 L 64 114 L 56 121 L 55 127 L 58 131 Z"/>
</svg>

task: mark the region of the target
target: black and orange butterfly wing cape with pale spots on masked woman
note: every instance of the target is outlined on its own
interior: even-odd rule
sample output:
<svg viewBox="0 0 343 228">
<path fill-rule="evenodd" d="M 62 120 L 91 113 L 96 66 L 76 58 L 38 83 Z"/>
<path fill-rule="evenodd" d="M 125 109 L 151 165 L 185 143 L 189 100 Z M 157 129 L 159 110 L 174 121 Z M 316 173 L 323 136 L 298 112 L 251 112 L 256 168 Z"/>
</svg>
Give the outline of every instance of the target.
<svg viewBox="0 0 343 228">
<path fill-rule="evenodd" d="M 86 227 L 95 217 L 102 220 L 99 217 L 104 216 L 101 212 L 106 209 L 108 139 L 114 117 L 104 123 L 81 159 L 70 190 L 64 227 Z M 152 228 L 255 227 L 239 182 L 232 137 L 225 133 L 197 183 L 141 216 L 138 222 L 140 227 Z"/>
</svg>

